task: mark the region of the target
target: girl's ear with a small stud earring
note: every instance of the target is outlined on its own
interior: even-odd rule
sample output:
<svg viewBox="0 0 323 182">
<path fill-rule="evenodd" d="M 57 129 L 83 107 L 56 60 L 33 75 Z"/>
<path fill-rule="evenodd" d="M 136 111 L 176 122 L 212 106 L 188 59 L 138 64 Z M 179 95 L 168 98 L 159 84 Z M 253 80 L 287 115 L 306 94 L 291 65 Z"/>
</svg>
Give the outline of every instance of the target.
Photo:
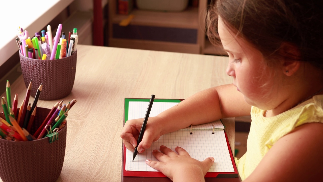
<svg viewBox="0 0 323 182">
<path fill-rule="evenodd" d="M 282 56 L 282 71 L 287 76 L 293 75 L 300 67 L 300 53 L 295 45 L 283 42 L 279 48 L 279 55 Z"/>
</svg>

